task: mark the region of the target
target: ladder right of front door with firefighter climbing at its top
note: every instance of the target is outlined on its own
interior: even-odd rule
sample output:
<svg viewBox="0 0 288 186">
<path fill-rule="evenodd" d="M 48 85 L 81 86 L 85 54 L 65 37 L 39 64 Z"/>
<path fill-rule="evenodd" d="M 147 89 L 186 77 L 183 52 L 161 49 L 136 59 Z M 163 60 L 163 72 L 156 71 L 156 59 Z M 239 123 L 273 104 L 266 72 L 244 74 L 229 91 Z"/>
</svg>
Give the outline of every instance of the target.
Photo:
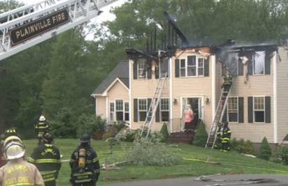
<svg viewBox="0 0 288 186">
<path fill-rule="evenodd" d="M 218 123 L 221 123 L 223 120 L 223 116 L 225 113 L 225 109 L 227 108 L 227 102 L 229 100 L 229 95 L 231 92 L 232 86 L 229 88 L 228 93 L 224 92 L 224 88 L 221 92 L 221 98 L 219 99 L 218 106 L 216 109 L 216 115 L 214 117 L 214 121 L 211 125 L 211 130 L 209 132 L 209 136 L 207 138 L 207 142 L 205 145 L 205 148 L 214 148 L 215 142 L 216 142 L 216 136 L 218 131 Z"/>
</svg>

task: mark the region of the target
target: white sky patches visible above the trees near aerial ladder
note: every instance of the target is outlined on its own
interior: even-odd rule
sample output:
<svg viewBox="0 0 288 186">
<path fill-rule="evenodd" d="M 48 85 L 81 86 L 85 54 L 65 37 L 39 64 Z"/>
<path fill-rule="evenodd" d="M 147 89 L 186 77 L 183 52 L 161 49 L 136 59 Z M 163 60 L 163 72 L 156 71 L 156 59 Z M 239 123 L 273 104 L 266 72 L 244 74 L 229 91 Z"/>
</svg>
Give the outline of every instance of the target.
<svg viewBox="0 0 288 186">
<path fill-rule="evenodd" d="M 31 4 L 31 3 L 38 3 L 40 1 L 43 0 L 17 0 L 19 2 L 25 3 L 25 4 Z M 112 21 L 115 19 L 115 15 L 113 15 L 112 13 L 109 13 L 109 10 L 113 7 L 117 7 L 117 6 L 121 6 L 122 3 L 125 3 L 127 0 L 118 0 L 114 3 L 111 3 L 111 5 L 106 6 L 104 8 L 101 8 L 101 10 L 103 11 L 103 13 L 97 17 L 95 17 L 94 19 L 90 20 L 90 24 L 96 24 L 96 23 L 100 23 L 103 21 Z M 90 33 L 86 39 L 87 40 L 93 40 L 94 38 L 94 34 Z"/>
</svg>

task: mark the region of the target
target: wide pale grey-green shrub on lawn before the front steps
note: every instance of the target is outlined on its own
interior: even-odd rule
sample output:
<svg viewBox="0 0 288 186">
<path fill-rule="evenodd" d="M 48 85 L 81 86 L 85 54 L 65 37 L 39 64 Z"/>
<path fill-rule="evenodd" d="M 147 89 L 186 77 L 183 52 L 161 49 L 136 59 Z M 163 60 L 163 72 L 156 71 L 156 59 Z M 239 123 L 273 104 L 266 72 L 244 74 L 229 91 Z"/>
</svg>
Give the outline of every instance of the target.
<svg viewBox="0 0 288 186">
<path fill-rule="evenodd" d="M 150 138 L 137 138 L 133 146 L 127 150 L 127 160 L 135 165 L 171 166 L 181 161 L 165 144 L 161 144 L 154 134 Z"/>
</svg>

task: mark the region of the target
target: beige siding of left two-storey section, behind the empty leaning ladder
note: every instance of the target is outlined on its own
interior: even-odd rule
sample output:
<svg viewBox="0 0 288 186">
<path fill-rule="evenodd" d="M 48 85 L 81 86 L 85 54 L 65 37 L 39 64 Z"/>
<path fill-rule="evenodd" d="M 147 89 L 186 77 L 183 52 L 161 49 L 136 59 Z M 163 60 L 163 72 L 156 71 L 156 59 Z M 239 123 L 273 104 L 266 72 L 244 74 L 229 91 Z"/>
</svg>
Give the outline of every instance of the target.
<svg viewBox="0 0 288 186">
<path fill-rule="evenodd" d="M 159 79 L 154 79 L 153 76 L 152 79 L 133 79 L 133 72 L 131 72 L 131 75 L 131 128 L 135 130 L 141 128 L 144 122 L 134 122 L 134 99 L 152 99 Z M 161 98 L 169 98 L 169 78 L 164 82 Z M 153 123 L 151 128 L 152 130 L 161 130 L 162 125 L 163 123 Z"/>
</svg>

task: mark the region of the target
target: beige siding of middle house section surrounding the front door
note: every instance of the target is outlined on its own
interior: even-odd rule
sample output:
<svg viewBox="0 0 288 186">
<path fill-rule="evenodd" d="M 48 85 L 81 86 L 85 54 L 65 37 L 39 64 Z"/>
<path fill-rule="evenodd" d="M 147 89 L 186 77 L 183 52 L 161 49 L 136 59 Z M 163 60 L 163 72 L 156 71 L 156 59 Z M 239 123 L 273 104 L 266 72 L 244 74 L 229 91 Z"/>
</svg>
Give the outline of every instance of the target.
<svg viewBox="0 0 288 186">
<path fill-rule="evenodd" d="M 204 49 L 203 49 L 204 50 Z M 206 50 L 205 52 L 209 52 Z M 177 52 L 175 56 L 178 59 L 186 59 L 189 55 L 198 55 L 198 52 L 185 51 Z M 211 59 L 211 58 L 210 58 Z M 211 100 L 211 61 L 209 61 L 209 77 L 175 77 L 175 57 L 173 57 L 172 72 L 173 72 L 173 99 L 177 100 L 177 104 L 173 104 L 173 131 L 180 130 L 180 118 L 182 118 L 182 99 L 183 98 L 201 98 L 203 120 L 207 125 L 207 130 L 210 129 L 212 122 L 212 103 L 205 103 L 206 98 Z"/>
</svg>

